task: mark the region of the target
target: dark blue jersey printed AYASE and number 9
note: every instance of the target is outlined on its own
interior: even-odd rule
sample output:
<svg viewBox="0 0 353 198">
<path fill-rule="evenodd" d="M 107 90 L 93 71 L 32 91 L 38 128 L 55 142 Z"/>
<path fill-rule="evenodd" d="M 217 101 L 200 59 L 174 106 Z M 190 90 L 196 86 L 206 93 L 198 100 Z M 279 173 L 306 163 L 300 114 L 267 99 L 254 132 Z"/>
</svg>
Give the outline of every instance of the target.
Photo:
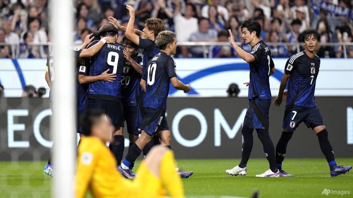
<svg viewBox="0 0 353 198">
<path fill-rule="evenodd" d="M 93 41 L 95 43 L 99 42 Z M 95 43 L 92 43 L 94 45 Z M 121 101 L 121 73 L 125 64 L 125 58 L 122 51 L 124 46 L 119 43 L 104 44 L 102 49 L 92 57 L 93 64 L 90 69 L 90 76 L 101 75 L 109 69 L 108 74 L 116 72 L 116 77 L 113 82 L 96 81 L 90 83 L 88 97 L 91 99 Z"/>
</svg>

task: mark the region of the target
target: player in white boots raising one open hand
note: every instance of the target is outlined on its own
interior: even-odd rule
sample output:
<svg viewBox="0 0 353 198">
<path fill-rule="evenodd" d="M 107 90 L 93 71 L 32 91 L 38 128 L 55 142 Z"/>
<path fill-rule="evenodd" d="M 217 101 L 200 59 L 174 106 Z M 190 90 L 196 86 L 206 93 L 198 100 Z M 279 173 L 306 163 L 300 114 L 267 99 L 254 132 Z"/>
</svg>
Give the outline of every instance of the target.
<svg viewBox="0 0 353 198">
<path fill-rule="evenodd" d="M 231 30 L 229 30 L 229 43 L 250 66 L 250 82 L 244 83 L 249 86 L 249 108 L 246 111 L 243 128 L 241 129 L 241 134 L 243 134 L 244 138 L 241 149 L 241 161 L 238 166 L 231 170 L 226 170 L 226 173 L 230 175 L 246 175 L 246 164 L 253 145 L 252 131 L 256 129 L 257 136 L 261 140 L 265 156 L 270 164 L 269 170 L 263 174 L 256 175 L 256 177 L 279 177 L 275 161 L 275 148 L 268 131 L 268 114 L 271 105 L 269 76 L 275 72 L 271 51 L 259 39 L 261 26 L 257 21 L 244 21 L 241 24 L 241 32 L 244 42 L 251 46 L 250 53 L 245 52 L 235 44 Z"/>
</svg>

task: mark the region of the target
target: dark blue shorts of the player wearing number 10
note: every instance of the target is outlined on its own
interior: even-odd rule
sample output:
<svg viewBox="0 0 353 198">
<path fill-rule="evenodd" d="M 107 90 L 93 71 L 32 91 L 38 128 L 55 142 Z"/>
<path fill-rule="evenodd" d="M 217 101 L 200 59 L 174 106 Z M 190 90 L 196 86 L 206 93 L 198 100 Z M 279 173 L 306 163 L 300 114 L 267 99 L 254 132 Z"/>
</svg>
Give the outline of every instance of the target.
<svg viewBox="0 0 353 198">
<path fill-rule="evenodd" d="M 144 107 L 143 113 L 142 130 L 144 130 L 147 134 L 153 135 L 158 131 L 169 130 L 166 112 L 164 109 Z"/>
</svg>

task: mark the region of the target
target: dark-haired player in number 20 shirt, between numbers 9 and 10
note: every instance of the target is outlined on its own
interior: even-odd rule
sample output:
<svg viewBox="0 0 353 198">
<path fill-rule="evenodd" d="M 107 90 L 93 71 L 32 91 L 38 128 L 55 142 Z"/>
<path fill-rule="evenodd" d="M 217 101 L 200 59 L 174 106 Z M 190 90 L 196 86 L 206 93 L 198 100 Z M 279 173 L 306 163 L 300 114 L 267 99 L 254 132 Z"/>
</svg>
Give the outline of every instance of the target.
<svg viewBox="0 0 353 198">
<path fill-rule="evenodd" d="M 126 120 L 127 133 L 129 134 L 130 145 L 138 139 L 139 130 L 136 127 L 136 114 L 138 111 L 137 101 L 140 90 L 142 75 L 142 53 L 137 52 L 138 45 L 134 44 L 125 36 L 122 38 L 125 47 L 123 51 L 126 59 L 121 75 L 121 101 L 124 108 L 124 120 Z M 129 170 L 132 170 L 134 163 Z"/>
</svg>

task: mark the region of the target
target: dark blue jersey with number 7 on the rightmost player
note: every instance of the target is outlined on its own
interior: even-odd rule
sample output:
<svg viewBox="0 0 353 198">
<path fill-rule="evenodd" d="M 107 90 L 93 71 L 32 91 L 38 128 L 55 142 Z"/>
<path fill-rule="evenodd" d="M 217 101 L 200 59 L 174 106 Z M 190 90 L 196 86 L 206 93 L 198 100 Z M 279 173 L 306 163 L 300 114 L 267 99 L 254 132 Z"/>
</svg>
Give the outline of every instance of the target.
<svg viewBox="0 0 353 198">
<path fill-rule="evenodd" d="M 287 105 L 315 107 L 316 78 L 319 73 L 320 58 L 310 58 L 305 51 L 291 56 L 286 63 L 285 73 L 291 75 L 288 81 Z"/>
</svg>

